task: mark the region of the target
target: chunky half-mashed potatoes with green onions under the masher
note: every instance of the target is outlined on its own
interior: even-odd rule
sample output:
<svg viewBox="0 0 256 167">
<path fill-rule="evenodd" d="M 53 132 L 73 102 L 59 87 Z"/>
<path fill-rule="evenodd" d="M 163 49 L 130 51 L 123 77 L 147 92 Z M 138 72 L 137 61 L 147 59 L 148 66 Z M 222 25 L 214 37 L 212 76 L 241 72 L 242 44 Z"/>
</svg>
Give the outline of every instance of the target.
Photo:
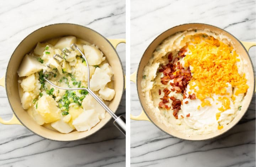
<svg viewBox="0 0 256 167">
<path fill-rule="evenodd" d="M 78 50 L 71 50 L 76 43 L 89 63 Z M 62 49 L 68 48 L 67 56 Z M 64 59 L 57 57 L 61 55 Z M 104 54 L 94 44 L 73 36 L 55 38 L 37 43 L 36 48 L 26 54 L 17 73 L 19 95 L 23 109 L 39 124 L 61 133 L 73 130 L 86 131 L 105 118 L 106 111 L 85 90 L 66 91 L 53 87 L 44 80 L 43 71 L 50 81 L 61 87 L 87 87 L 90 70 L 90 87 L 105 103 L 114 98 L 113 71 Z M 46 74 L 47 75 L 47 74 Z"/>
</svg>

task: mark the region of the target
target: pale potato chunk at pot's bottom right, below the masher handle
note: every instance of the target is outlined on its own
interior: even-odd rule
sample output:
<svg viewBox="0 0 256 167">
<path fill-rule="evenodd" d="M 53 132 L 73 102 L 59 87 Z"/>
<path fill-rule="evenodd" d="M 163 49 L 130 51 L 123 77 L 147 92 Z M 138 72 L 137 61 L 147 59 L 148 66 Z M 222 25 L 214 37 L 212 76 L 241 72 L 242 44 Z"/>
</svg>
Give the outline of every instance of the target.
<svg viewBox="0 0 256 167">
<path fill-rule="evenodd" d="M 100 119 L 98 118 L 98 113 L 96 113 L 94 109 L 90 109 L 82 112 L 73 121 L 73 125 L 78 131 L 86 131 L 86 130 L 90 130 L 98 122 L 100 122 Z"/>
</svg>

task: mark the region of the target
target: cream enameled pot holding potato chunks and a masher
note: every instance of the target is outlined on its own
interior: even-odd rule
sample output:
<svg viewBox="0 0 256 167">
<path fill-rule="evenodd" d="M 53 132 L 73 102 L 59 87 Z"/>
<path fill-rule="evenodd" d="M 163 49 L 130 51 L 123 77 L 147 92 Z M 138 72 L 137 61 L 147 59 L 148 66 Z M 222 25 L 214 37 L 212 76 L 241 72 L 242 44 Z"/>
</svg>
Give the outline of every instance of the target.
<svg viewBox="0 0 256 167">
<path fill-rule="evenodd" d="M 62 134 L 58 131 L 49 130 L 38 125 L 21 107 L 21 101 L 18 94 L 18 75 L 17 70 L 20 66 L 23 56 L 29 53 L 37 44 L 51 38 L 61 36 L 75 36 L 97 45 L 114 73 L 114 90 L 116 95 L 109 104 L 109 108 L 116 112 L 124 91 L 124 72 L 121 60 L 116 52 L 119 43 L 125 43 L 125 39 L 106 39 L 98 32 L 80 25 L 70 23 L 58 23 L 37 29 L 29 34 L 14 50 L 7 65 L 5 76 L 0 79 L 0 85 L 5 87 L 9 104 L 14 113 L 11 120 L 5 121 L 0 118 L 2 124 L 20 124 L 43 138 L 57 141 L 73 141 L 86 138 L 101 129 L 112 117 L 106 113 L 106 118 L 102 119 L 95 127 L 89 131 L 73 131 L 69 134 Z"/>
</svg>

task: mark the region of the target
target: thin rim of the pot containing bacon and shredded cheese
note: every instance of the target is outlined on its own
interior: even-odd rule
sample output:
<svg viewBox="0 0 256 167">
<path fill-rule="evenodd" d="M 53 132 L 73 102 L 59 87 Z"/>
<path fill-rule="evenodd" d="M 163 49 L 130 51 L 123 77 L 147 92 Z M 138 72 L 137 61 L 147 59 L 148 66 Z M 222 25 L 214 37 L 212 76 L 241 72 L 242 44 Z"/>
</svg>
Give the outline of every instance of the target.
<svg viewBox="0 0 256 167">
<path fill-rule="evenodd" d="M 185 24 L 177 25 L 177 26 L 174 26 L 174 27 L 171 27 L 171 28 L 165 30 L 164 32 L 162 32 L 161 34 L 159 34 L 157 37 L 155 37 L 155 39 L 154 39 L 154 40 L 148 45 L 148 47 L 145 49 L 145 51 L 144 51 L 142 57 L 140 58 L 139 66 L 140 66 L 140 63 L 142 62 L 142 58 L 143 58 L 143 56 L 144 56 L 146 50 L 148 50 L 148 48 L 151 46 L 151 44 L 152 44 L 159 36 L 161 36 L 163 33 L 169 31 L 169 30 L 172 29 L 172 28 L 175 28 L 175 27 L 178 27 L 178 26 L 183 26 L 183 25 L 190 25 L 190 24 L 212 26 L 212 27 L 221 29 L 222 31 L 224 31 L 224 32 L 230 34 L 231 36 L 233 36 L 233 37 L 240 43 L 240 45 L 242 46 L 242 48 L 244 48 L 244 50 L 246 51 L 246 54 L 247 54 L 247 56 L 249 57 L 250 63 L 251 63 L 251 65 L 252 65 L 252 67 L 253 67 L 252 60 L 251 60 L 251 57 L 250 57 L 249 53 L 247 52 L 247 50 L 245 49 L 244 45 L 239 41 L 238 38 L 236 38 L 233 34 L 229 33 L 228 31 L 226 31 L 226 30 L 224 30 L 224 29 L 222 29 L 222 28 L 219 28 L 219 27 L 213 26 L 213 25 L 209 25 L 209 24 L 205 24 L 205 23 L 185 23 Z M 177 33 L 177 32 L 176 32 L 176 33 Z M 169 37 L 169 36 L 168 36 L 168 37 Z M 166 38 L 167 38 L 167 37 L 166 37 Z M 137 93 L 138 93 L 138 95 L 139 95 L 139 89 L 138 89 L 138 72 L 139 72 L 139 66 L 138 66 L 137 72 L 136 72 L 136 87 L 137 87 Z M 252 68 L 252 71 L 253 71 L 253 73 L 255 74 L 254 68 Z M 254 90 L 255 90 L 255 75 L 254 75 L 254 87 L 253 87 L 252 91 L 254 91 Z M 146 116 L 149 118 L 149 120 L 150 120 L 158 129 L 160 129 L 161 131 L 163 131 L 163 132 L 166 133 L 167 135 L 173 136 L 173 135 L 171 135 L 170 133 L 168 133 L 167 131 L 161 129 L 158 125 L 155 124 L 155 122 L 153 122 L 153 120 L 149 117 L 148 113 L 146 112 L 144 106 L 142 105 L 142 100 L 140 99 L 140 96 L 138 96 L 138 97 L 139 97 L 140 106 L 142 106 L 142 109 L 143 109 L 144 113 L 146 114 Z M 252 100 L 253 97 L 254 97 L 254 93 L 252 94 L 251 100 Z M 251 102 L 251 100 L 250 100 L 250 102 Z M 244 112 L 244 114 L 247 112 L 248 108 L 249 108 L 249 106 L 246 108 L 246 111 Z M 241 118 L 239 119 L 239 121 L 242 119 L 242 117 L 244 116 L 244 114 L 241 116 Z M 233 120 L 232 120 L 232 121 L 233 121 Z M 239 122 L 239 121 L 238 121 L 238 122 Z M 236 123 L 236 124 L 237 124 L 237 123 Z M 220 136 L 220 135 L 223 135 L 224 133 L 226 133 L 227 131 L 229 131 L 231 128 L 233 128 L 236 124 L 234 124 L 233 126 L 231 126 L 229 129 L 227 129 L 227 130 L 224 131 L 223 133 L 221 133 L 221 134 L 219 134 L 219 135 L 216 135 L 216 136 L 213 136 L 213 137 L 211 137 L 211 138 L 193 140 L 193 139 L 183 139 L 183 138 L 179 138 L 179 137 L 177 137 L 177 136 L 173 136 L 173 137 L 178 138 L 178 139 L 182 139 L 182 140 L 188 140 L 188 141 L 204 141 L 204 140 L 210 140 L 210 139 L 217 138 L 217 137 Z"/>
</svg>

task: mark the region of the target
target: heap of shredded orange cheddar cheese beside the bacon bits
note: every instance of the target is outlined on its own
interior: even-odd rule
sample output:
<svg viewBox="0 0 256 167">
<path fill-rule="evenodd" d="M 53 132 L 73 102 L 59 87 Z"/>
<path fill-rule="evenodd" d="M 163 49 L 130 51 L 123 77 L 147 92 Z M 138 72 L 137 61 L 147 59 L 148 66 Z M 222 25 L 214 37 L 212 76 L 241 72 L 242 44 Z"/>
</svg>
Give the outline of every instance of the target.
<svg viewBox="0 0 256 167">
<path fill-rule="evenodd" d="M 211 36 L 202 35 L 192 36 L 191 42 L 186 45 L 191 54 L 187 54 L 184 58 L 185 67 L 193 67 L 191 69 L 193 77 L 189 85 L 198 99 L 203 101 L 206 97 L 212 97 L 212 93 L 227 95 L 226 83 L 230 83 L 233 88 L 237 87 L 235 95 L 246 93 L 247 80 L 245 74 L 240 76 L 238 73 L 236 61 L 240 60 L 237 60 L 238 54 L 233 47 Z M 220 110 L 227 108 L 228 106 L 224 106 Z"/>
</svg>

